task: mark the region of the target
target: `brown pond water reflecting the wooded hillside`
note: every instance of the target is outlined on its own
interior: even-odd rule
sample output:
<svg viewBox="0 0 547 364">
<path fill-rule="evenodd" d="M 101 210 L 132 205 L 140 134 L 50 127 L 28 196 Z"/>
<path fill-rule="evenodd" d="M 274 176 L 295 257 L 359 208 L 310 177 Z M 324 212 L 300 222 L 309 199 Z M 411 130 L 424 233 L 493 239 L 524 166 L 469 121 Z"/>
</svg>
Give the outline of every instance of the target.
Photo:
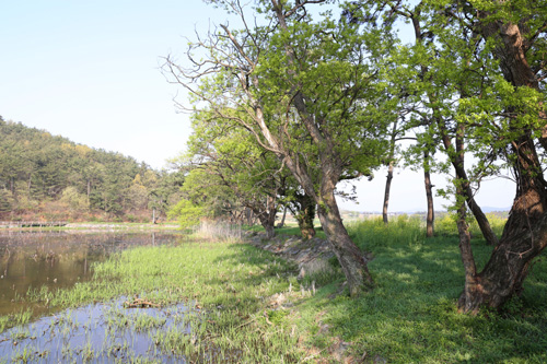
<svg viewBox="0 0 547 364">
<path fill-rule="evenodd" d="M 49 290 L 89 280 L 92 265 L 112 253 L 132 246 L 174 244 L 182 237 L 170 233 L 0 233 L 0 315 L 21 310 L 18 296 L 30 287 Z"/>
</svg>

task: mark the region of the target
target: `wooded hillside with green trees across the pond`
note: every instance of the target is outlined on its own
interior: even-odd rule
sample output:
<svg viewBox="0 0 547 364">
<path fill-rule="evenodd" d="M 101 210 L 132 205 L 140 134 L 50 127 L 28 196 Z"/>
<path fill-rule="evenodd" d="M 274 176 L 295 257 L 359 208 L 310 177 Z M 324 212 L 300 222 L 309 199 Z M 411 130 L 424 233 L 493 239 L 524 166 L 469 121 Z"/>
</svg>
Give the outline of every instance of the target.
<svg viewBox="0 0 547 364">
<path fill-rule="evenodd" d="M 149 221 L 183 176 L 0 117 L 0 220 Z"/>
</svg>

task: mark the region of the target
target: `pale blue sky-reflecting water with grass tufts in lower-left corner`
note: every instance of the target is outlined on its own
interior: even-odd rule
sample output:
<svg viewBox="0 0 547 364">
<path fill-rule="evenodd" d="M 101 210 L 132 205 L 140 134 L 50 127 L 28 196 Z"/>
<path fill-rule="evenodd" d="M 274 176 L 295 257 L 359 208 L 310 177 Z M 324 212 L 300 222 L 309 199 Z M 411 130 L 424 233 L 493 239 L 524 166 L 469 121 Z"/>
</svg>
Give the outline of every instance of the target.
<svg viewBox="0 0 547 364">
<path fill-rule="evenodd" d="M 184 304 L 125 309 L 124 298 L 63 310 L 0 333 L 0 357 L 11 362 L 185 363 L 162 350 L 164 332 L 190 336 L 198 313 Z"/>
</svg>

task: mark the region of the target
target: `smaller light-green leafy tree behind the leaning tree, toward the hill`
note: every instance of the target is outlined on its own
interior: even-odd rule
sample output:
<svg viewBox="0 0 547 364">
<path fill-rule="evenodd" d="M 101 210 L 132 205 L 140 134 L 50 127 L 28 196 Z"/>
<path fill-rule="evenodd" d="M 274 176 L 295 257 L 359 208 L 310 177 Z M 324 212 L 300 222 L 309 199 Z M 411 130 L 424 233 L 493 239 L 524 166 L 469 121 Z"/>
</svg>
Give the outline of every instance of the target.
<svg viewBox="0 0 547 364">
<path fill-rule="evenodd" d="M 271 152 L 263 151 L 246 130 L 211 118 L 209 111 L 195 113 L 193 127 L 189 164 L 214 176 L 214 184 L 206 185 L 229 188 L 238 204 L 253 211 L 267 237 L 274 237 L 279 193 L 286 180 L 281 178 L 283 166 Z"/>
</svg>

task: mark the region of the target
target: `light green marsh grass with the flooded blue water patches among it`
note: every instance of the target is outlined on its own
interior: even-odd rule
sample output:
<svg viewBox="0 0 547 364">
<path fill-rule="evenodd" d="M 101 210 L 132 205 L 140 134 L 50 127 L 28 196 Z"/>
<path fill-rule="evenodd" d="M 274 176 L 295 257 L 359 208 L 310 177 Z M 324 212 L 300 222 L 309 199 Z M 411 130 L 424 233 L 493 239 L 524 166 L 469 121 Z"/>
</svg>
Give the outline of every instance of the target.
<svg viewBox="0 0 547 364">
<path fill-rule="evenodd" d="M 74 307 L 92 313 L 98 308 L 75 307 L 104 303 L 101 314 L 93 317 L 75 318 L 72 309 L 66 309 L 44 318 L 45 322 L 40 321 L 36 330 L 45 325 L 47 334 L 62 339 L 62 344 L 47 348 L 49 357 L 179 361 L 184 356 L 193 362 L 212 363 L 296 361 L 298 336 L 286 329 L 283 315 L 276 316 L 274 327 L 267 315 L 268 300 L 275 293 L 292 285 L 295 287 L 292 296 L 300 295 L 295 267 L 244 244 L 199 242 L 124 250 L 95 265 L 93 280 L 70 290 L 30 290 L 22 301 L 58 309 Z M 124 308 L 119 297 L 135 296 L 162 307 Z M 154 312 L 161 315 L 149 314 Z M 4 336 L 18 329 L 8 330 Z M 100 337 L 90 337 L 95 331 L 101 332 Z M 146 334 L 147 339 L 139 334 Z M 80 339 L 71 342 L 71 338 Z M 27 357 L 43 344 L 26 341 L 24 347 L 10 351 L 5 347 L 12 344 L 10 339 L 0 344 L 0 351 L 7 350 L 3 355 L 12 359 L 23 354 Z M 148 348 L 147 351 L 136 351 L 137 343 Z"/>
</svg>

